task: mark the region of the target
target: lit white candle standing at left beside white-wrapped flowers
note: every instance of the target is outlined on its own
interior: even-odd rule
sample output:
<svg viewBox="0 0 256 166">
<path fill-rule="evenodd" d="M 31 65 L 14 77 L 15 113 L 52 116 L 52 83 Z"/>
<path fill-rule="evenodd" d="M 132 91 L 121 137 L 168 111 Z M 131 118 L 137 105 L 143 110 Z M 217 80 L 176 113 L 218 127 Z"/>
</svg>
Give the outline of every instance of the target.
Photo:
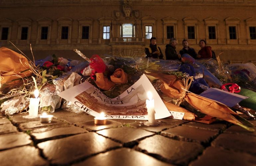
<svg viewBox="0 0 256 166">
<path fill-rule="evenodd" d="M 35 98 L 30 98 L 29 102 L 29 116 L 30 117 L 37 117 L 38 116 L 38 108 L 39 108 L 39 102 L 40 98 L 39 96 L 39 91 L 36 89 L 34 91 Z"/>
</svg>

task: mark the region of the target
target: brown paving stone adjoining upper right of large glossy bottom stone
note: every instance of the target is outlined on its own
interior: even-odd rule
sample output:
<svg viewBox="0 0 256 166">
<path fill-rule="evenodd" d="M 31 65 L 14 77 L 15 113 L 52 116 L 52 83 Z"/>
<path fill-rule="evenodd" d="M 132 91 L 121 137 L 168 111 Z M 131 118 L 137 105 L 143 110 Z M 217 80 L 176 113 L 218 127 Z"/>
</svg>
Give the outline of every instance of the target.
<svg viewBox="0 0 256 166">
<path fill-rule="evenodd" d="M 161 135 L 166 135 L 168 137 L 183 141 L 207 144 L 218 135 L 218 131 L 200 129 L 189 126 L 177 126 L 162 131 Z"/>
</svg>

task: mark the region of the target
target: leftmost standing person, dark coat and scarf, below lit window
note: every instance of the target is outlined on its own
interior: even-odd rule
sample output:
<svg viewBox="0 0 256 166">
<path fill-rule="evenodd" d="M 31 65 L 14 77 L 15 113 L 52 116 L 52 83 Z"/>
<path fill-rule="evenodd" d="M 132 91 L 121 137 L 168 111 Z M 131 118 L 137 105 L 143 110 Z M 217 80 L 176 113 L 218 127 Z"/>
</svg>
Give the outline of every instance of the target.
<svg viewBox="0 0 256 166">
<path fill-rule="evenodd" d="M 164 59 L 164 55 L 160 49 L 160 47 L 157 46 L 157 38 L 152 37 L 150 39 L 150 44 L 148 47 L 145 48 L 146 58 L 152 57 L 157 59 Z"/>
</svg>

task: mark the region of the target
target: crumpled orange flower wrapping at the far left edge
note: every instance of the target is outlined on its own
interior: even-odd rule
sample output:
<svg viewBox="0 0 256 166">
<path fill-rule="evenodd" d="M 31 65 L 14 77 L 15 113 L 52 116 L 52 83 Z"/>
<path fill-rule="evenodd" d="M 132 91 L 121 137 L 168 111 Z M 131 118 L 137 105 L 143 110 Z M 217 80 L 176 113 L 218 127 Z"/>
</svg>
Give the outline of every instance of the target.
<svg viewBox="0 0 256 166">
<path fill-rule="evenodd" d="M 32 72 L 28 70 L 29 67 L 27 65 L 28 59 L 25 56 L 6 47 L 0 48 L 0 55 L 1 84 L 31 75 Z M 13 81 L 11 83 L 14 84 L 16 82 Z"/>
</svg>

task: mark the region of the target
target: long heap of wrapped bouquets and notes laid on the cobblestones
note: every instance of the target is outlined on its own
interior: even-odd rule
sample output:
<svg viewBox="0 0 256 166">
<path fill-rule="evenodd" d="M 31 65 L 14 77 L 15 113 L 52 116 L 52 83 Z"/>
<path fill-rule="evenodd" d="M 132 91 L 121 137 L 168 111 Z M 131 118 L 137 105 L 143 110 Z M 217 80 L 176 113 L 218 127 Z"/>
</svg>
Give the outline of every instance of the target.
<svg viewBox="0 0 256 166">
<path fill-rule="evenodd" d="M 74 51 L 84 60 L 53 55 L 31 61 L 25 55 L 1 47 L 1 113 L 8 116 L 26 113 L 31 109 L 33 92 L 39 90 L 39 112 L 52 113 L 57 108 L 64 108 L 79 113 L 85 111 L 86 106 L 87 110 L 93 107 L 96 112 L 97 107 L 105 110 L 105 117 L 117 115 L 125 119 L 124 116 L 147 115 L 143 93 L 152 86 L 159 97 L 154 96 L 155 106 L 163 104 L 164 109 L 171 112 L 165 117 L 170 114 L 169 118 L 175 118 L 178 112 L 183 115 L 181 119 L 207 124 L 224 120 L 254 131 L 254 125 L 247 121 L 256 117 L 256 67 L 252 63 L 223 65 L 219 56 L 217 60 L 198 61 L 188 54 L 182 55 L 182 61 L 99 55 L 88 58 L 79 50 Z M 150 82 L 145 81 L 145 76 Z M 74 101 L 87 105 L 80 107 L 60 95 L 68 89 L 70 92 L 70 88 L 74 90 L 85 85 L 90 88 L 83 93 L 76 92 Z M 140 90 L 135 90 L 135 86 Z M 132 95 L 128 97 L 124 93 Z M 225 98 L 218 99 L 219 96 Z M 135 98 L 135 105 L 125 105 L 122 110 L 110 105 Z M 107 103 L 88 104 L 88 101 L 97 102 L 96 99 Z M 156 119 L 161 118 L 156 109 Z"/>
</svg>

